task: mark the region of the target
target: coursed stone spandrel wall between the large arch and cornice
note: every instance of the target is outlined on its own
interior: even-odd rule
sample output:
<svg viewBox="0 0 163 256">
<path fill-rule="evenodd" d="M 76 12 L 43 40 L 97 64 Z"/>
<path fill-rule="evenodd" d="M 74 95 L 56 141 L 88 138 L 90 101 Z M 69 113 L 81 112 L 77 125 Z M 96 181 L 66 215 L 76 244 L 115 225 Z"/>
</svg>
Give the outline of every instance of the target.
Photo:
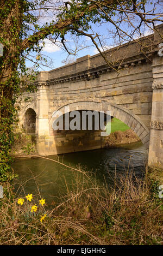
<svg viewBox="0 0 163 256">
<path fill-rule="evenodd" d="M 55 73 L 53 73 L 55 75 Z M 51 74 L 52 76 L 52 74 Z M 149 127 L 152 109 L 152 64 L 144 62 L 124 68 L 120 74 L 106 72 L 99 78 L 49 85 L 49 118 L 65 102 L 98 100 L 121 105 Z"/>
</svg>

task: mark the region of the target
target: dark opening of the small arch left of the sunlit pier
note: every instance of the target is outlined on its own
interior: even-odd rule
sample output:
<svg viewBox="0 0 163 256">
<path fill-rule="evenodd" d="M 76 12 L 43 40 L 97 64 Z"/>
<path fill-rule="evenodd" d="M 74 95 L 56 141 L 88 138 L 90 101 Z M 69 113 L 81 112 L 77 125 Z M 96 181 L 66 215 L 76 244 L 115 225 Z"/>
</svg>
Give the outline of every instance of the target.
<svg viewBox="0 0 163 256">
<path fill-rule="evenodd" d="M 24 115 L 24 124 L 23 128 L 26 133 L 33 134 L 35 133 L 36 127 L 36 113 L 33 109 L 28 109 Z"/>
</svg>

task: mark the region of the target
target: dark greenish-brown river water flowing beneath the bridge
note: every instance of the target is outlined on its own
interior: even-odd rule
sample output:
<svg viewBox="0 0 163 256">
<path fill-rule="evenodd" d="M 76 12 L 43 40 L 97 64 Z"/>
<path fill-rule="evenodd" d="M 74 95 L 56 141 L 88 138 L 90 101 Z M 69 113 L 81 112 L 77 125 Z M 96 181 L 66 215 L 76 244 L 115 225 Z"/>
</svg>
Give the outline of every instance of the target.
<svg viewBox="0 0 163 256">
<path fill-rule="evenodd" d="M 74 168 L 80 166 L 87 171 L 96 172 L 97 181 L 111 183 L 115 170 L 117 178 L 127 170 L 141 176 L 145 170 L 146 149 L 141 142 L 136 142 L 117 148 L 100 148 L 48 158 L 59 160 Z M 28 193 L 37 194 L 39 188 L 41 197 L 45 198 L 49 205 L 58 201 L 60 194 L 67 189 L 66 184 L 71 184 L 74 180 L 74 173 L 69 168 L 42 158 L 17 158 L 12 167 L 18 174 L 15 179 L 17 197 Z"/>
</svg>

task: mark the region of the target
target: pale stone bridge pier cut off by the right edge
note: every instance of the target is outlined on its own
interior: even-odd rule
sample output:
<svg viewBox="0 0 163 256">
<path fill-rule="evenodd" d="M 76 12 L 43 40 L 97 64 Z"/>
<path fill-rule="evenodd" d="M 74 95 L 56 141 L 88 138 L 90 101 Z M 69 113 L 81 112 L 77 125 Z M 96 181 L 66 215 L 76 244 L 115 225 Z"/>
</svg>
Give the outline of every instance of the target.
<svg viewBox="0 0 163 256">
<path fill-rule="evenodd" d="M 163 165 L 163 57 L 153 58 L 153 96 L 148 164 Z"/>
</svg>

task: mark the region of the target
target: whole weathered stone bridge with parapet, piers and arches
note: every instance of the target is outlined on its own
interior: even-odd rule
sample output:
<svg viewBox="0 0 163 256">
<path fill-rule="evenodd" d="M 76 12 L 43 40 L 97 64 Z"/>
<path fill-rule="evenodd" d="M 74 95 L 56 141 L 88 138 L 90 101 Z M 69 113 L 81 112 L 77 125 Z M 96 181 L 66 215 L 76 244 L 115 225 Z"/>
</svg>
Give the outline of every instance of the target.
<svg viewBox="0 0 163 256">
<path fill-rule="evenodd" d="M 162 33 L 163 26 L 157 28 Z M 154 47 L 152 51 L 147 47 L 145 54 L 134 41 L 106 52 L 115 66 L 121 66 L 120 73 L 109 68 L 100 54 L 39 73 L 37 92 L 24 92 L 23 97 L 30 97 L 30 102 L 22 100 L 19 111 L 20 123 L 25 129 L 27 126 L 27 132 L 28 128 L 35 129 L 39 154 L 104 146 L 99 130 L 53 130 L 54 111 L 64 115 L 68 106 L 70 111 L 111 111 L 111 116 L 126 123 L 149 148 L 149 165 L 163 164 L 163 57 L 158 55 L 161 40 L 156 33 L 148 38 Z"/>
</svg>

